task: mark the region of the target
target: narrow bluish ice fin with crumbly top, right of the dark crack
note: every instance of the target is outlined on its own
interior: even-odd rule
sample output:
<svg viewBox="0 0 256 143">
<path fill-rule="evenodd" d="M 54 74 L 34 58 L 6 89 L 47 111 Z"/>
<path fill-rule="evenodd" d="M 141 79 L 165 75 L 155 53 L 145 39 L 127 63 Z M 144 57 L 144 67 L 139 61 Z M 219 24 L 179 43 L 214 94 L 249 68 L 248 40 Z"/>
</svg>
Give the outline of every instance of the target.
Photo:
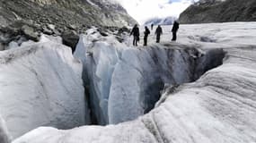
<svg viewBox="0 0 256 143">
<path fill-rule="evenodd" d="M 81 36 L 75 50 L 75 57 L 84 63 L 84 83 L 90 90 L 88 97 L 93 112 L 93 122 L 107 124 L 108 100 L 111 77 L 118 63 L 123 46 L 116 40 L 101 36 L 96 29 L 88 30 L 88 36 Z M 98 41 L 98 42 L 96 42 Z M 119 48 L 115 48 L 118 46 Z"/>
</svg>

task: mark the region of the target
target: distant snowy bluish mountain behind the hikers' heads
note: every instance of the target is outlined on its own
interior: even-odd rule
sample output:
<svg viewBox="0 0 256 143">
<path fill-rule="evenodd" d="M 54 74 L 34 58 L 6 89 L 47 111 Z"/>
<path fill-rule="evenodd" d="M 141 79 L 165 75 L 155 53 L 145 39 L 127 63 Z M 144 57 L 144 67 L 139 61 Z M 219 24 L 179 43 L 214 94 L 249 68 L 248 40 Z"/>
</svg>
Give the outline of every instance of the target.
<svg viewBox="0 0 256 143">
<path fill-rule="evenodd" d="M 153 18 L 144 23 L 144 25 L 172 25 L 173 21 L 175 21 L 175 17 L 165 17 L 165 18 Z"/>
</svg>

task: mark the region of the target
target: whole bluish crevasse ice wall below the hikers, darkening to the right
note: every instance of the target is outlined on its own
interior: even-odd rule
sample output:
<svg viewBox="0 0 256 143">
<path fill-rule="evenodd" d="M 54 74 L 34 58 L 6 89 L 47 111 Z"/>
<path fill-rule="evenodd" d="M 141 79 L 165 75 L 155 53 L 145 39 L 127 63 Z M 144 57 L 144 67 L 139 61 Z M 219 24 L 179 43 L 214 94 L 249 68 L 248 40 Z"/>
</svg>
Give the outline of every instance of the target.
<svg viewBox="0 0 256 143">
<path fill-rule="evenodd" d="M 193 47 L 168 44 L 129 47 L 114 37 L 102 37 L 96 29 L 81 36 L 75 51 L 75 57 L 84 63 L 94 118 L 102 125 L 148 113 L 160 98 L 164 84 L 197 80 L 222 64 L 224 55 L 222 49 L 202 53 Z"/>
</svg>

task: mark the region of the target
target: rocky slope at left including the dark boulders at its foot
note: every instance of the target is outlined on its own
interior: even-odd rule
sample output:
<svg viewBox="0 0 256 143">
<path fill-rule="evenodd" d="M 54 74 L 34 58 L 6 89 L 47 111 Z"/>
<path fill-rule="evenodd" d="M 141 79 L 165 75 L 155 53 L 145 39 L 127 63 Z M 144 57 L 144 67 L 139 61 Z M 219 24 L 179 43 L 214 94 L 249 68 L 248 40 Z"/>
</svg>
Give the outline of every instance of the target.
<svg viewBox="0 0 256 143">
<path fill-rule="evenodd" d="M 40 33 L 61 36 L 66 46 L 75 48 L 79 33 L 92 26 L 135 23 L 120 4 L 109 0 L 0 0 L 0 48 L 21 41 L 21 36 L 37 41 Z"/>
</svg>

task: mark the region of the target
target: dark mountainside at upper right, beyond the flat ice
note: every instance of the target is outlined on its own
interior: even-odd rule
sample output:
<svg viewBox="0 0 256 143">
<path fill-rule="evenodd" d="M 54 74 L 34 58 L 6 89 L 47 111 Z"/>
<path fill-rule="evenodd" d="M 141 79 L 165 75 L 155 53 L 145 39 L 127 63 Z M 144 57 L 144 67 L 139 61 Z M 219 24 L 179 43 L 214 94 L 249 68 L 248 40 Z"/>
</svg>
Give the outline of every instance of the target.
<svg viewBox="0 0 256 143">
<path fill-rule="evenodd" d="M 181 23 L 256 21 L 255 0 L 203 0 L 180 15 Z"/>
</svg>

